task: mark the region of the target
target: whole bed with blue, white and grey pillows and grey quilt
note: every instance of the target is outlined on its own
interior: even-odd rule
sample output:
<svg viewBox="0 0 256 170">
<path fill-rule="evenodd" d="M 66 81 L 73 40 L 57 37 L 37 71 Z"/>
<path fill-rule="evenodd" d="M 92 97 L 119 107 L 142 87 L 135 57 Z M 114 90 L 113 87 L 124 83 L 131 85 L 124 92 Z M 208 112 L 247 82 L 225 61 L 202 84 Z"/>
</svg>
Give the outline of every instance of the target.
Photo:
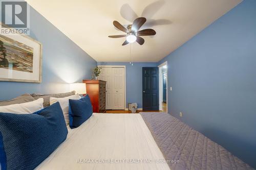
<svg viewBox="0 0 256 170">
<path fill-rule="evenodd" d="M 170 114 L 92 113 L 88 95 L 34 95 L 0 103 L 0 169 L 253 169 Z"/>
</svg>

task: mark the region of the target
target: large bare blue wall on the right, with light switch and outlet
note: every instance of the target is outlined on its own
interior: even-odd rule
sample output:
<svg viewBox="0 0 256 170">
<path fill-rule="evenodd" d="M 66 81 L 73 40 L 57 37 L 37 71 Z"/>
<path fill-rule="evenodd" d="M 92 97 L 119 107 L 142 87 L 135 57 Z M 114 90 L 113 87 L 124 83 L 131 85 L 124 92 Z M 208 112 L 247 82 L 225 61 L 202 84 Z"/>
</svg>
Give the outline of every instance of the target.
<svg viewBox="0 0 256 170">
<path fill-rule="evenodd" d="M 168 111 L 256 168 L 256 1 L 245 0 L 159 62 Z"/>
</svg>

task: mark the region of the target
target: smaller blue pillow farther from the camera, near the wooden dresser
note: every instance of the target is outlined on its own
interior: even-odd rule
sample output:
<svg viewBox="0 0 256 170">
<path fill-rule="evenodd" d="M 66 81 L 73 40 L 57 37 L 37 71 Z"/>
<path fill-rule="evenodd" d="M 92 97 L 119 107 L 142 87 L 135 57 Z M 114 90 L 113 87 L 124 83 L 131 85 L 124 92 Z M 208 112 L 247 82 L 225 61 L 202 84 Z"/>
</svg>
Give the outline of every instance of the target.
<svg viewBox="0 0 256 170">
<path fill-rule="evenodd" d="M 69 126 L 77 128 L 93 114 L 92 103 L 89 95 L 78 100 L 69 100 Z"/>
</svg>

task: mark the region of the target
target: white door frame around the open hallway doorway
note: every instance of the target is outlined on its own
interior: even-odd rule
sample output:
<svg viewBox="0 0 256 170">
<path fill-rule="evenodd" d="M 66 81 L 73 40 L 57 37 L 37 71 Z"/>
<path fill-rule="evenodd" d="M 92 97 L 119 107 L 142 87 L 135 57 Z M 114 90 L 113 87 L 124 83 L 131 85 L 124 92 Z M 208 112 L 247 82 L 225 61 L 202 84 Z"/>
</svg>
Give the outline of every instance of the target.
<svg viewBox="0 0 256 170">
<path fill-rule="evenodd" d="M 158 66 L 159 71 L 159 108 L 162 108 L 162 98 L 163 98 L 163 74 L 162 71 L 160 71 L 160 67 L 166 65 L 167 66 L 167 71 L 166 71 L 166 112 L 168 113 L 168 65 L 167 61 L 163 62 Z"/>
</svg>

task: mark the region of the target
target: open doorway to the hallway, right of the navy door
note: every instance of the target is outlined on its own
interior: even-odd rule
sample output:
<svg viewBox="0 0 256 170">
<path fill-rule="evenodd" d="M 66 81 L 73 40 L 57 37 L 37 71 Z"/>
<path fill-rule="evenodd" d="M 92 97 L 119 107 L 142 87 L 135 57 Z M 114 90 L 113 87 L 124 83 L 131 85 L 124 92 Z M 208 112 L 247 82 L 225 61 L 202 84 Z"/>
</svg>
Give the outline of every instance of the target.
<svg viewBox="0 0 256 170">
<path fill-rule="evenodd" d="M 159 110 L 168 112 L 168 86 L 167 86 L 167 61 L 160 64 L 159 68 Z"/>
</svg>

